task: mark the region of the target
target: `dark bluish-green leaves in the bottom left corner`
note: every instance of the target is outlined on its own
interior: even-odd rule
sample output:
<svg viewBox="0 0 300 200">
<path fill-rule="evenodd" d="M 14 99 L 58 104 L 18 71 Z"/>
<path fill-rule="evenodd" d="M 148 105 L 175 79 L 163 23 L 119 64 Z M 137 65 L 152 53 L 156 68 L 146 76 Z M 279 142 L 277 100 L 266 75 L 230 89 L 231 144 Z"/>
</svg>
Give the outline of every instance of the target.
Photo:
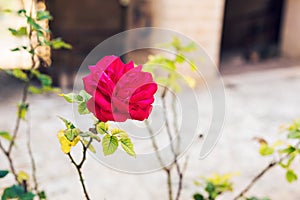
<svg viewBox="0 0 300 200">
<path fill-rule="evenodd" d="M 23 187 L 19 185 L 13 185 L 4 190 L 1 200 L 9 200 L 9 199 L 33 200 L 34 196 L 35 195 L 31 192 L 25 192 Z"/>
</svg>

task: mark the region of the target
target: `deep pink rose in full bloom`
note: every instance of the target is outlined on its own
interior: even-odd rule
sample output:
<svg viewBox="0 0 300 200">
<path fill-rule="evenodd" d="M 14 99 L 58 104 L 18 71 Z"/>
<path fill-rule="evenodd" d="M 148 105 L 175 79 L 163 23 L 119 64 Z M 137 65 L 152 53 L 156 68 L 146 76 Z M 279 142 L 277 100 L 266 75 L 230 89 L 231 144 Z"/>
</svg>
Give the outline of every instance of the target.
<svg viewBox="0 0 300 200">
<path fill-rule="evenodd" d="M 100 121 L 142 121 L 149 117 L 157 84 L 142 66 L 105 56 L 89 69 L 91 73 L 83 78 L 84 89 L 92 95 L 87 108 Z"/>
</svg>

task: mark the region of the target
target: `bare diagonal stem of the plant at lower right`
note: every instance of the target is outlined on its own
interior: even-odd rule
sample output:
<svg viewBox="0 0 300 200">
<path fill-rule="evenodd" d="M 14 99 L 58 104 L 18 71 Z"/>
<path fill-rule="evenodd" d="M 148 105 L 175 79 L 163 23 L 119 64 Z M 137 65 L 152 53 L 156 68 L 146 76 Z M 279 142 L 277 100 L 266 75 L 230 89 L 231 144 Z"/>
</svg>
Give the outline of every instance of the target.
<svg viewBox="0 0 300 200">
<path fill-rule="evenodd" d="M 300 143 L 297 143 L 296 146 L 299 146 Z M 269 165 L 267 165 L 261 172 L 259 172 L 252 180 L 251 182 L 234 198 L 234 200 L 238 200 L 239 198 L 245 196 L 245 194 L 252 188 L 252 186 L 270 169 L 273 167 L 277 166 L 279 163 L 284 161 L 285 159 L 290 157 L 290 153 L 282 156 L 279 160 L 277 161 L 272 161 Z"/>
</svg>

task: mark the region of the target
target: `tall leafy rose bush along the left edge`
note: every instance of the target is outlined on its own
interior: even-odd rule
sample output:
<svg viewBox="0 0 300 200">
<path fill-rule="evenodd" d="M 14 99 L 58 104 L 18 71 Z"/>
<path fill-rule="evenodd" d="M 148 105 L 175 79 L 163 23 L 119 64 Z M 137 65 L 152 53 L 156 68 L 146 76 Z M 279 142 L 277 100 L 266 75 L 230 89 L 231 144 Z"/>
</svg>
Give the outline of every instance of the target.
<svg viewBox="0 0 300 200">
<path fill-rule="evenodd" d="M 46 199 L 46 194 L 39 188 L 36 178 L 36 164 L 31 150 L 30 141 L 30 118 L 28 117 L 28 111 L 30 109 L 30 103 L 28 95 L 31 94 L 43 94 L 47 92 L 58 92 L 58 88 L 52 87 L 52 79 L 46 74 L 42 74 L 39 71 L 40 66 L 48 65 L 49 61 L 40 54 L 41 48 L 67 48 L 70 49 L 71 45 L 63 42 L 61 39 L 50 39 L 50 30 L 45 28 L 42 23 L 51 20 L 53 17 L 47 10 L 36 10 L 35 1 L 31 2 L 31 8 L 29 11 L 21 9 L 18 11 L 5 10 L 5 14 L 9 13 L 17 15 L 25 19 L 26 24 L 21 27 L 11 27 L 8 31 L 14 37 L 23 37 L 29 41 L 28 45 L 22 45 L 11 49 L 13 52 L 25 51 L 31 58 L 31 66 L 28 68 L 14 68 L 11 70 L 2 69 L 6 74 L 15 77 L 23 82 L 23 91 L 21 101 L 17 105 L 17 119 L 15 127 L 12 133 L 9 131 L 0 131 L 0 150 L 7 158 L 10 169 L 0 170 L 0 178 L 6 177 L 8 174 L 14 176 L 15 182 L 12 186 L 4 188 L 1 199 L 19 199 L 19 200 L 32 200 L 34 198 Z M 20 66 L 24 67 L 24 66 Z M 34 83 L 34 80 L 39 81 L 39 86 Z M 27 124 L 27 130 L 20 130 L 21 123 Z M 18 133 L 22 131 L 27 134 L 27 149 L 31 161 L 31 174 L 27 172 L 18 171 L 14 164 L 14 157 L 12 151 L 14 150 Z M 20 152 L 23 153 L 23 152 Z"/>
</svg>

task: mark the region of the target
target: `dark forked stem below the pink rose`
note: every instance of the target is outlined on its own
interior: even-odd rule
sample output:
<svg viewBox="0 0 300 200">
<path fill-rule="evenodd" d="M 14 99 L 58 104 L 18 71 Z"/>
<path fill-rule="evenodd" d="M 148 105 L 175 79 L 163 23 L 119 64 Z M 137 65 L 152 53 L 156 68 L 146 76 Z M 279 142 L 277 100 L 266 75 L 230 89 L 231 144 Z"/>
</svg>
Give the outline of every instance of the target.
<svg viewBox="0 0 300 200">
<path fill-rule="evenodd" d="M 76 163 L 76 161 L 74 160 L 74 158 L 72 157 L 71 153 L 68 153 L 68 157 L 70 158 L 72 164 L 75 166 L 76 168 L 76 171 L 77 171 L 77 174 L 79 176 L 79 180 L 80 180 L 80 183 L 81 183 L 81 186 L 82 186 L 82 189 L 83 189 L 83 192 L 84 192 L 84 195 L 85 195 L 85 198 L 86 200 L 90 200 L 90 197 L 89 197 L 89 194 L 87 192 L 87 188 L 86 188 L 86 185 L 85 185 L 85 182 L 84 182 L 84 179 L 83 179 L 83 174 L 82 174 L 82 166 L 84 164 L 84 162 L 86 161 L 86 154 L 87 154 L 87 150 L 89 148 L 89 146 L 91 145 L 93 139 L 91 138 L 88 142 L 87 145 L 84 145 L 83 142 L 81 142 L 82 144 L 82 149 L 83 149 L 83 152 L 82 152 L 82 159 L 80 161 L 79 164 Z"/>
</svg>

